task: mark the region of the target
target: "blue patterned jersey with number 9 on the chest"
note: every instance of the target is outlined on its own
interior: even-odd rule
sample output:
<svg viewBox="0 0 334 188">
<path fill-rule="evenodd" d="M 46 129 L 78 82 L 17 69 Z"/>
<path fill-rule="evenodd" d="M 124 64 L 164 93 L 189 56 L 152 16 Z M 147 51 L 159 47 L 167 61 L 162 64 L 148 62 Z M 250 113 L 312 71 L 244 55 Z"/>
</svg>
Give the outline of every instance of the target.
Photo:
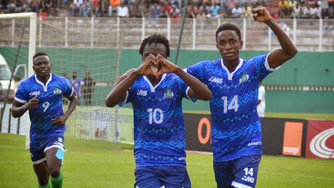
<svg viewBox="0 0 334 188">
<path fill-rule="evenodd" d="M 35 74 L 21 82 L 15 100 L 27 103 L 35 95 L 39 100 L 38 106 L 29 110 L 31 143 L 47 137 L 64 136 L 65 125 L 52 125 L 51 119 L 64 114 L 62 96 L 69 98 L 72 93 L 73 88 L 69 81 L 54 74 L 50 74 L 46 85 L 39 81 Z"/>
</svg>

